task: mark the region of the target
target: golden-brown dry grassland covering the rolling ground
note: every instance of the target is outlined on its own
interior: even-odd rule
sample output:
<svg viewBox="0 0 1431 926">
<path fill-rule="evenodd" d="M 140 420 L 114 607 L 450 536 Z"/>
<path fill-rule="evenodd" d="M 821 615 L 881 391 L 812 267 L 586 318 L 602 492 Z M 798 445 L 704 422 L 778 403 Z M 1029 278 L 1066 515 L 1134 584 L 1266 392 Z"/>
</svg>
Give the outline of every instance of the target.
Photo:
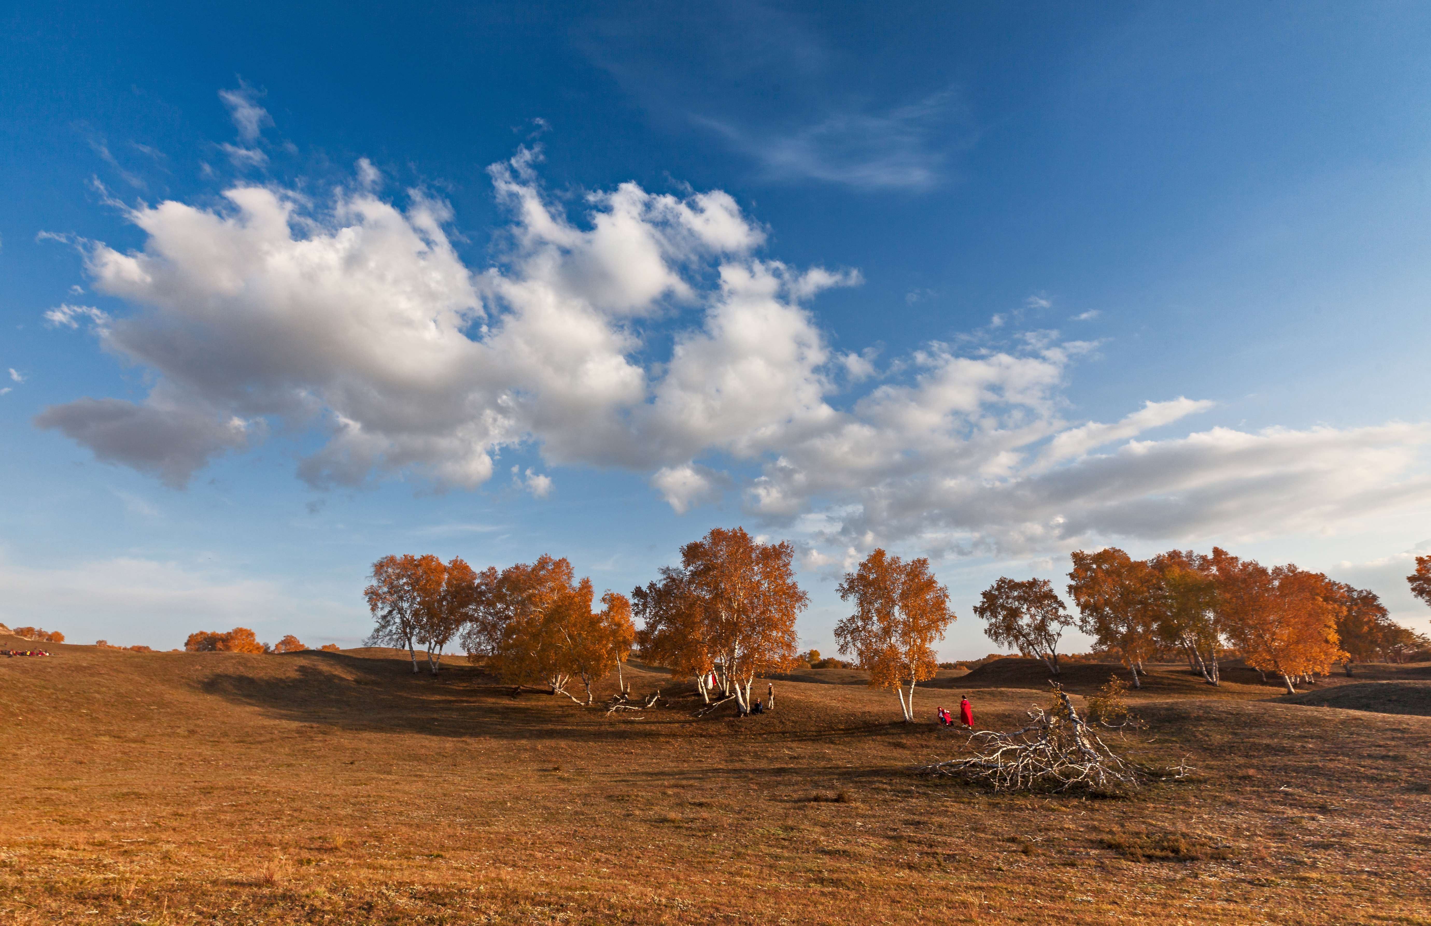
<svg viewBox="0 0 1431 926">
<path fill-rule="evenodd" d="M 1012 728 L 1046 700 L 1020 660 L 944 673 L 907 726 L 846 670 L 693 720 L 640 667 L 671 707 L 391 650 L 53 651 L 0 658 L 6 923 L 1431 923 L 1431 666 L 1294 698 L 1156 667 L 1120 747 L 1195 776 L 1085 800 L 912 774 L 964 743 L 939 704 Z"/>
</svg>

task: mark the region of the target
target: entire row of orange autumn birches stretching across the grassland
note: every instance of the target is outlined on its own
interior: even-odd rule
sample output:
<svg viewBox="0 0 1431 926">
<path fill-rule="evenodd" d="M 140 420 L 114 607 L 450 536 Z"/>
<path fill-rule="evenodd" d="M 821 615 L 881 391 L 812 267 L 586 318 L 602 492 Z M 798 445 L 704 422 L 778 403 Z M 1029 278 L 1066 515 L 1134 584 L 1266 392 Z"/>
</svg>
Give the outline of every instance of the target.
<svg viewBox="0 0 1431 926">
<path fill-rule="evenodd" d="M 591 580 L 577 580 L 565 558 L 478 572 L 461 557 L 384 557 L 363 590 L 375 620 L 368 644 L 408 650 L 414 673 L 422 648 L 434 676 L 458 645 L 509 684 L 539 686 L 578 704 L 591 704 L 592 686 L 610 673 L 625 693 L 621 667 L 638 655 L 691 678 L 705 706 L 734 701 L 740 713 L 754 707 L 756 678 L 851 667 L 870 673 L 871 687 L 894 688 L 904 718 L 913 720 L 914 688 L 939 671 L 934 647 L 956 620 L 926 558 L 874 550 L 844 575 L 837 591 L 853 613 L 836 627 L 840 654 L 851 657 L 843 661 L 796 650 L 796 618 L 809 595 L 794 578 L 788 542 L 716 528 L 680 552 L 678 565 L 661 568 L 630 598 L 607 590 L 600 610 Z M 1392 621 L 1374 593 L 1295 565 L 1266 568 L 1221 548 L 1149 560 L 1106 548 L 1072 558 L 1068 594 L 1076 617 L 1040 578 L 1000 578 L 975 607 L 992 640 L 1042 660 L 1055 676 L 1060 661 L 1113 657 L 1141 684 L 1148 661 L 1186 658 L 1218 684 L 1219 663 L 1235 653 L 1292 690 L 1295 678 L 1335 661 L 1349 673 L 1355 661 L 1405 658 L 1431 645 Z M 1431 604 L 1431 557 L 1417 562 L 1421 578 L 1411 577 L 1412 590 Z M 1075 625 L 1095 638 L 1095 653 L 1059 654 L 1063 631 Z M 967 667 L 995 658 L 1003 657 Z M 763 707 L 773 696 L 768 688 Z"/>
</svg>

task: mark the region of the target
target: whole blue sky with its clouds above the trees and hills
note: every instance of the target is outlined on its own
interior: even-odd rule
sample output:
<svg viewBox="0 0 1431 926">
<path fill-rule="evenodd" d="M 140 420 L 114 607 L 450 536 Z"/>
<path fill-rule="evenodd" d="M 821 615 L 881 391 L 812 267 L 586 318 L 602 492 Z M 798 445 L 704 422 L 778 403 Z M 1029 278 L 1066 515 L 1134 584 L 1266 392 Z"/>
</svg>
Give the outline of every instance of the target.
<svg viewBox="0 0 1431 926">
<path fill-rule="evenodd" d="M 627 591 L 744 524 L 824 651 L 873 545 L 932 557 L 947 657 L 1103 544 L 1425 630 L 1424 6 L 0 23 L 10 625 L 352 644 L 386 552 Z"/>
</svg>

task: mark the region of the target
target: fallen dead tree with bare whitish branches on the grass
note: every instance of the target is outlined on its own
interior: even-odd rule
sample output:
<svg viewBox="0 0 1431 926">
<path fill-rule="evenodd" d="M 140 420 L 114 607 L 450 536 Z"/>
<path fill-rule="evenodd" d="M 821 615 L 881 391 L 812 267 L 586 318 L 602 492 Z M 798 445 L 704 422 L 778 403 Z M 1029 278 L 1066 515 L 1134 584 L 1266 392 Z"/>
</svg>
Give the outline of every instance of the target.
<svg viewBox="0 0 1431 926">
<path fill-rule="evenodd" d="M 1191 769 L 1179 764 L 1155 769 L 1118 756 L 1096 728 L 1073 710 L 1068 693 L 1053 686 L 1047 707 L 1029 711 L 1029 724 L 1012 733 L 980 730 L 966 746 L 973 753 L 916 771 L 986 784 L 996 791 L 1086 791 L 1129 794 L 1152 780 L 1182 779 Z M 1119 726 L 1126 726 L 1119 724 Z M 1105 724 L 1106 726 L 1106 724 Z M 1113 727 L 1118 728 L 1118 727 Z"/>
</svg>

